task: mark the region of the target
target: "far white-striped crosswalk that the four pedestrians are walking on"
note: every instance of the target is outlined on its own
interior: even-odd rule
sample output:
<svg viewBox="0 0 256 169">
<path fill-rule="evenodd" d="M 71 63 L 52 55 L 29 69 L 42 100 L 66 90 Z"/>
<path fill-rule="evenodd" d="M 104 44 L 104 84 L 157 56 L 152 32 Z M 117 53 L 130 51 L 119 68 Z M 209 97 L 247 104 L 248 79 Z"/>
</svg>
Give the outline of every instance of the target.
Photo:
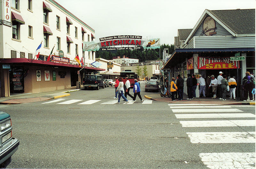
<svg viewBox="0 0 256 169">
<path fill-rule="evenodd" d="M 128 100 L 128 103 L 123 102 L 122 100 L 120 101 L 120 104 L 134 104 L 134 103 L 141 103 L 141 104 L 152 104 L 152 100 L 143 100 L 143 102 L 139 102 L 139 101 L 132 101 L 132 100 Z M 78 105 L 89 105 L 89 104 L 116 104 L 117 99 L 116 100 L 80 100 L 80 99 L 71 99 L 71 100 L 67 100 L 67 99 L 55 99 L 52 101 L 47 101 L 44 102 L 42 104 L 78 104 Z"/>
</svg>

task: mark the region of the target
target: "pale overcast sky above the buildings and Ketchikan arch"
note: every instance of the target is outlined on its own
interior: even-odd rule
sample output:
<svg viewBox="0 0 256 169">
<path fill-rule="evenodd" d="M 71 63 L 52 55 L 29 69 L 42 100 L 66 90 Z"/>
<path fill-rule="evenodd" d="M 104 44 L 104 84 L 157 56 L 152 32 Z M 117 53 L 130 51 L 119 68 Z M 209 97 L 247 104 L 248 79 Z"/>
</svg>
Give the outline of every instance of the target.
<svg viewBox="0 0 256 169">
<path fill-rule="evenodd" d="M 255 9 L 255 0 L 56 0 L 99 38 L 140 35 L 173 44 L 178 29 L 193 28 L 205 9 Z"/>
</svg>

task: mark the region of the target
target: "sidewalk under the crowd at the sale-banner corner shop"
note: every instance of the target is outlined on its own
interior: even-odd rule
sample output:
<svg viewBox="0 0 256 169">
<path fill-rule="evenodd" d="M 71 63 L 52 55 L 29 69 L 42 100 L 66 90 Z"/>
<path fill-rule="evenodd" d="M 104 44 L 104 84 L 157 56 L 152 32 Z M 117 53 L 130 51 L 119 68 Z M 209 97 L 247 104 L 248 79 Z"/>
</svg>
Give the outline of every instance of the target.
<svg viewBox="0 0 256 169">
<path fill-rule="evenodd" d="M 145 95 L 144 96 L 147 99 L 156 100 L 159 102 L 167 102 L 167 103 L 175 103 L 175 104 L 245 104 L 245 105 L 255 105 L 255 101 L 253 102 L 244 102 L 244 101 L 238 101 L 238 100 L 231 100 L 227 98 L 227 100 L 223 101 L 218 98 L 212 99 L 211 97 L 199 97 L 192 100 L 187 100 L 187 95 L 183 95 L 183 99 L 181 101 L 172 101 L 172 98 L 169 97 L 161 97 L 160 94 L 156 95 Z"/>
</svg>

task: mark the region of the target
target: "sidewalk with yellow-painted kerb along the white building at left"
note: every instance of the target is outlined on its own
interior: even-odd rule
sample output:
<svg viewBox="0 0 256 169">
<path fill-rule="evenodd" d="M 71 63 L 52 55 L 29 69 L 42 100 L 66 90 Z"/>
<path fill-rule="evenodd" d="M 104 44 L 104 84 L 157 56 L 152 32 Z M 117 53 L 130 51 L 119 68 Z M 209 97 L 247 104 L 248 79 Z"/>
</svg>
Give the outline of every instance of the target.
<svg viewBox="0 0 256 169">
<path fill-rule="evenodd" d="M 69 92 L 81 90 L 76 89 L 76 87 L 66 88 L 61 90 L 54 90 L 50 92 L 41 92 L 41 93 L 24 93 L 24 94 L 13 94 L 10 97 L 1 97 L 0 104 L 21 104 L 21 103 L 31 103 L 39 102 L 44 100 L 50 100 L 60 97 L 69 96 Z"/>
</svg>

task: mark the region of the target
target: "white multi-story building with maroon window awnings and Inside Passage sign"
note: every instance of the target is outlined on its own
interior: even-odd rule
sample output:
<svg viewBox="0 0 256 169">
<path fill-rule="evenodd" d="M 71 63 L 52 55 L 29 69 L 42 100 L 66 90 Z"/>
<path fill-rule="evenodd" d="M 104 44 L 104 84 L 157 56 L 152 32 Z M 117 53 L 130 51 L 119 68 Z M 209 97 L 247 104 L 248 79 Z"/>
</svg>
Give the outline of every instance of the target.
<svg viewBox="0 0 256 169">
<path fill-rule="evenodd" d="M 95 52 L 82 50 L 83 41 L 95 38 L 94 29 L 56 1 L 3 0 L 0 6 L 2 97 L 16 92 L 36 93 L 76 85 L 82 78 L 81 73 L 80 77 L 77 75 L 81 68 L 74 61 L 76 54 L 80 59 L 84 56 L 84 73 L 100 70 L 90 65 L 95 62 Z M 36 60 L 35 52 L 41 42 Z M 63 51 L 69 63 L 46 61 L 51 51 L 56 56 Z M 42 78 L 36 79 L 40 72 Z M 47 76 L 45 80 L 44 76 Z"/>
</svg>

